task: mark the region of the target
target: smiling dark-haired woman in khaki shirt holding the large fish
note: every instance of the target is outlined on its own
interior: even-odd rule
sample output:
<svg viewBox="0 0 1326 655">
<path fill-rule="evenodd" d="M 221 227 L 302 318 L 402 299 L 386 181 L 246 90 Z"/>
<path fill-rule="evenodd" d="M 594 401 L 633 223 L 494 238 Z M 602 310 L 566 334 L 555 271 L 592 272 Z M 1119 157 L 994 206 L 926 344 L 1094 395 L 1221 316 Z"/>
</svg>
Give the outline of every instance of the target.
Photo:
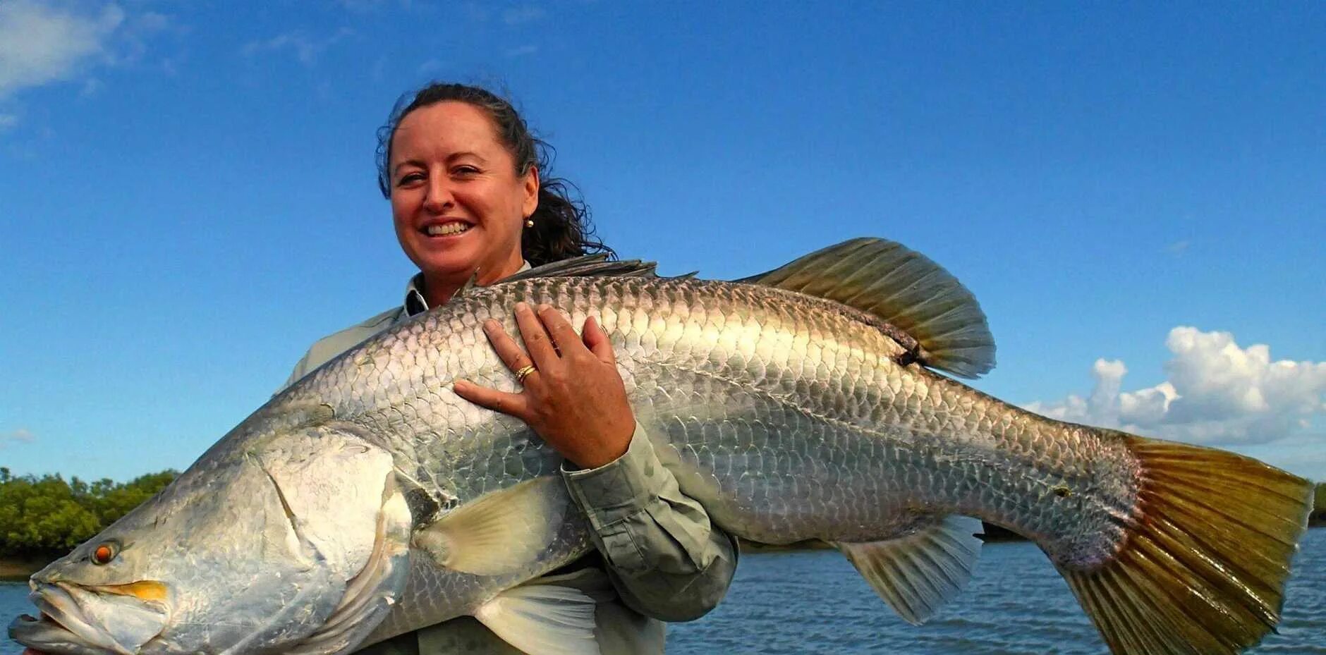
<svg viewBox="0 0 1326 655">
<path fill-rule="evenodd" d="M 484 89 L 434 84 L 398 105 L 378 134 L 378 184 L 419 273 L 402 305 L 314 343 L 286 385 L 365 338 L 446 304 L 475 276 L 485 285 L 532 265 L 610 253 L 589 236 L 583 208 L 568 199 L 561 180 L 545 179 L 546 171 L 544 143 L 509 102 Z M 550 308 L 517 305 L 514 312 L 529 351 L 496 321 L 484 328 L 524 392 L 464 381 L 453 388 L 525 420 L 566 457 L 564 477 L 594 528 L 598 554 L 554 574 L 558 583 L 601 601 L 595 636 L 602 652 L 663 652 L 662 621 L 697 618 L 727 591 L 736 567 L 732 540 L 678 491 L 654 455 L 631 414 L 606 333 L 589 320 L 575 337 L 574 326 Z M 361 652 L 518 651 L 463 618 Z"/>
</svg>

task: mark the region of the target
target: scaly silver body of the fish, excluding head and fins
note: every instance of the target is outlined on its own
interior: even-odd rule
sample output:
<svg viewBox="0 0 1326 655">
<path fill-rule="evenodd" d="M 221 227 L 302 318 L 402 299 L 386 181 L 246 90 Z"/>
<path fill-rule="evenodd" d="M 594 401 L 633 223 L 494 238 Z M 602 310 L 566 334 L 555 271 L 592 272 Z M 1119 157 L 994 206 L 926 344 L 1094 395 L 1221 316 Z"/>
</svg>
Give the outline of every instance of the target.
<svg viewBox="0 0 1326 655">
<path fill-rule="evenodd" d="M 561 456 L 524 423 L 451 390 L 456 379 L 517 388 L 481 324 L 495 318 L 516 334 L 520 301 L 558 306 L 574 325 L 599 321 L 636 419 L 682 489 L 749 541 L 880 541 L 960 513 L 1058 538 L 1063 558 L 1090 560 L 1109 554 L 1120 533 L 1111 516 L 1135 503 L 1123 448 L 919 363 L 900 366 L 902 346 L 863 314 L 754 285 L 623 277 L 479 289 L 346 353 L 269 410 L 330 404 L 442 503 L 558 476 Z M 1065 483 L 1090 491 L 1061 499 L 1052 489 Z M 548 566 L 590 542 L 577 534 L 561 548 Z M 442 593 L 442 575 L 422 566 L 416 586 L 434 589 L 407 597 L 479 605 L 500 591 L 475 582 L 472 595 Z M 389 626 L 422 627 L 473 609 L 464 605 Z"/>
</svg>

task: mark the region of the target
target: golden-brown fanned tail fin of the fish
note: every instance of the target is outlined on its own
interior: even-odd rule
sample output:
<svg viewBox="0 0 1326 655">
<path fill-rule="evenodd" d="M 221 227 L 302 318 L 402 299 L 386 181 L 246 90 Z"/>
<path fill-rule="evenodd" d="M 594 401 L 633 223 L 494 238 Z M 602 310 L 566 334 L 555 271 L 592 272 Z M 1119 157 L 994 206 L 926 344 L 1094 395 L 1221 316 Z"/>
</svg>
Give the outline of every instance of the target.
<svg viewBox="0 0 1326 655">
<path fill-rule="evenodd" d="M 1220 655 L 1280 621 L 1313 487 L 1250 457 L 1127 435 L 1138 514 L 1116 556 L 1059 566 L 1115 654 Z"/>
</svg>

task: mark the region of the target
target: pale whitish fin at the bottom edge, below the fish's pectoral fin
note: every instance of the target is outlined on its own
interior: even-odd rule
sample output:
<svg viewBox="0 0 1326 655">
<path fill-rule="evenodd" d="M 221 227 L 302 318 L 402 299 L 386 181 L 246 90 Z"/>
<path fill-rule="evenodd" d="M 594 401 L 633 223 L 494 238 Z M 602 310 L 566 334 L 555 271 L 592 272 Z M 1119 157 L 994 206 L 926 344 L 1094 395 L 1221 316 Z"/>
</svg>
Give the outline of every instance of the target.
<svg viewBox="0 0 1326 655">
<path fill-rule="evenodd" d="M 488 630 L 529 655 L 599 655 L 594 599 L 557 585 L 508 589 L 475 613 Z"/>
</svg>

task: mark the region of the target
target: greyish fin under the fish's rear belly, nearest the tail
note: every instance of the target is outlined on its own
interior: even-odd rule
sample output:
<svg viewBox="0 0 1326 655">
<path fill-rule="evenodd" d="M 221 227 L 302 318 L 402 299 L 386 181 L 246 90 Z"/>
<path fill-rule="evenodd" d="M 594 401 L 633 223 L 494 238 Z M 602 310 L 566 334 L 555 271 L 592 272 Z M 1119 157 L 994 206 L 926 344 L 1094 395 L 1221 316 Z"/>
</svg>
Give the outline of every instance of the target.
<svg viewBox="0 0 1326 655">
<path fill-rule="evenodd" d="M 953 599 L 980 557 L 981 522 L 967 516 L 943 520 L 902 538 L 831 544 L 894 611 L 922 625 Z"/>
</svg>

